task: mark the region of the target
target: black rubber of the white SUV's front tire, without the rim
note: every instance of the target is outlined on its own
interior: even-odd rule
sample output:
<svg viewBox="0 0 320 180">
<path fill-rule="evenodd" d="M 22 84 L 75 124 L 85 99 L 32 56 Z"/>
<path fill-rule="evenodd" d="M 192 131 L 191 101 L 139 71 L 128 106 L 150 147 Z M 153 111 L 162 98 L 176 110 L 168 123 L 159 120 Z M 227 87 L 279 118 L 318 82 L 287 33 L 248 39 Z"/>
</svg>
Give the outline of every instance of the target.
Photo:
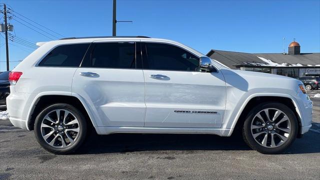
<svg viewBox="0 0 320 180">
<path fill-rule="evenodd" d="M 255 139 L 253 138 L 252 134 L 251 134 L 251 122 L 253 120 L 253 117 L 255 116 L 255 114 L 257 114 L 259 111 L 265 109 L 265 108 L 276 108 L 279 109 L 281 111 L 283 111 L 287 117 L 289 118 L 289 121 L 291 123 L 291 131 L 289 134 L 289 137 L 287 138 L 287 140 L 282 143 L 281 145 L 277 146 L 277 147 L 264 147 L 262 145 L 260 145 L 258 142 L 255 141 Z M 248 145 L 261 152 L 261 153 L 267 153 L 267 154 L 274 154 L 274 153 L 280 153 L 283 150 L 285 150 L 295 139 L 295 137 L 297 136 L 297 132 L 298 132 L 298 123 L 297 123 L 297 119 L 294 115 L 294 113 L 292 112 L 292 110 L 287 107 L 286 105 L 282 104 L 282 103 L 276 103 L 276 102 L 266 102 L 266 103 L 262 103 L 258 106 L 256 106 L 254 109 L 252 109 L 243 124 L 243 136 L 245 138 L 245 140 L 247 141 Z"/>
</svg>

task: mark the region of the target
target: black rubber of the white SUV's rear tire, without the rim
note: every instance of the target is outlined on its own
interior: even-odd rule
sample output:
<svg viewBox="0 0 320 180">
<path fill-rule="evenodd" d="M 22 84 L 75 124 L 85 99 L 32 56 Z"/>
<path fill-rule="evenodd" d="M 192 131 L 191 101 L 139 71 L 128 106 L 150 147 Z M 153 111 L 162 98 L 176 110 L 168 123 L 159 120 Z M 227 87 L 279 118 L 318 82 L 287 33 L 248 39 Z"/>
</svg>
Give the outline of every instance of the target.
<svg viewBox="0 0 320 180">
<path fill-rule="evenodd" d="M 77 134 L 75 142 L 72 145 L 67 146 L 65 148 L 56 148 L 56 147 L 49 145 L 43 139 L 42 134 L 41 134 L 40 128 L 41 128 L 42 119 L 44 118 L 44 116 L 47 113 L 49 113 L 52 110 L 56 110 L 56 109 L 65 109 L 65 110 L 70 111 L 77 118 L 78 123 L 79 123 L 80 130 L 79 130 L 79 133 Z M 74 106 L 72 106 L 70 104 L 66 104 L 66 103 L 52 104 L 52 105 L 49 105 L 46 108 L 44 108 L 36 116 L 35 123 L 34 123 L 34 133 L 35 133 L 37 141 L 44 149 L 46 149 L 52 153 L 56 153 L 56 154 L 70 153 L 70 152 L 75 151 L 83 143 L 83 140 L 85 139 L 85 135 L 86 135 L 86 121 L 85 121 L 83 114 Z"/>
</svg>

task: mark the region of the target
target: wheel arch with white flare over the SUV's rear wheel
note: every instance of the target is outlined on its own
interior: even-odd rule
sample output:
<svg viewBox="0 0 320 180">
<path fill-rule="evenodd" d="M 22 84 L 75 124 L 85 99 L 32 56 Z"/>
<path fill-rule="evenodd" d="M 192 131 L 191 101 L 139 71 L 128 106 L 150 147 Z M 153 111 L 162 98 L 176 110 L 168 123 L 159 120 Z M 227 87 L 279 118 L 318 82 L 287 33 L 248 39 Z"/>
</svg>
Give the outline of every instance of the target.
<svg viewBox="0 0 320 180">
<path fill-rule="evenodd" d="M 78 98 L 75 95 L 71 95 L 70 93 L 42 93 L 38 94 L 30 105 L 26 120 L 27 129 L 33 130 L 37 114 L 46 106 L 54 103 L 68 103 L 75 106 L 83 113 L 88 125 L 92 125 L 93 127 L 96 126 L 93 115 L 86 108 L 87 105 L 83 99 Z"/>
</svg>

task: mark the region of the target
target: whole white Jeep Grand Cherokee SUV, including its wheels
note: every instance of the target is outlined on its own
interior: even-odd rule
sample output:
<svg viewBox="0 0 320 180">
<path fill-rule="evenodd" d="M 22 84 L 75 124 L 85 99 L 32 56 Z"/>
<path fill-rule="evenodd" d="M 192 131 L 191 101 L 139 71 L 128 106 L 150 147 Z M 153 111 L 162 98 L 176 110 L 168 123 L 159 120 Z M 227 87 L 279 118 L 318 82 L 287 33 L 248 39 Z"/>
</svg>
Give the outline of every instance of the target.
<svg viewBox="0 0 320 180">
<path fill-rule="evenodd" d="M 279 153 L 311 127 L 301 81 L 233 70 L 175 41 L 64 38 L 40 45 L 10 73 L 14 126 L 46 150 L 76 150 L 88 128 L 110 133 L 209 133 Z"/>
</svg>

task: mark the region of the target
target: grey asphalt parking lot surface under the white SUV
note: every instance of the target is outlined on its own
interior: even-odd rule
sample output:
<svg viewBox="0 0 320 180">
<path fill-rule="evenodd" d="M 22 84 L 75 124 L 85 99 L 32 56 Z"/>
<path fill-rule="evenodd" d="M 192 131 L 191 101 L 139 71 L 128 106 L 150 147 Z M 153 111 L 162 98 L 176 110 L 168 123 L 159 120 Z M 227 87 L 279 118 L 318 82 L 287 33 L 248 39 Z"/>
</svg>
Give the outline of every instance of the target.
<svg viewBox="0 0 320 180">
<path fill-rule="evenodd" d="M 240 136 L 94 133 L 76 154 L 54 155 L 0 120 L 0 179 L 320 179 L 320 98 L 311 99 L 311 129 L 278 155 Z"/>
</svg>

